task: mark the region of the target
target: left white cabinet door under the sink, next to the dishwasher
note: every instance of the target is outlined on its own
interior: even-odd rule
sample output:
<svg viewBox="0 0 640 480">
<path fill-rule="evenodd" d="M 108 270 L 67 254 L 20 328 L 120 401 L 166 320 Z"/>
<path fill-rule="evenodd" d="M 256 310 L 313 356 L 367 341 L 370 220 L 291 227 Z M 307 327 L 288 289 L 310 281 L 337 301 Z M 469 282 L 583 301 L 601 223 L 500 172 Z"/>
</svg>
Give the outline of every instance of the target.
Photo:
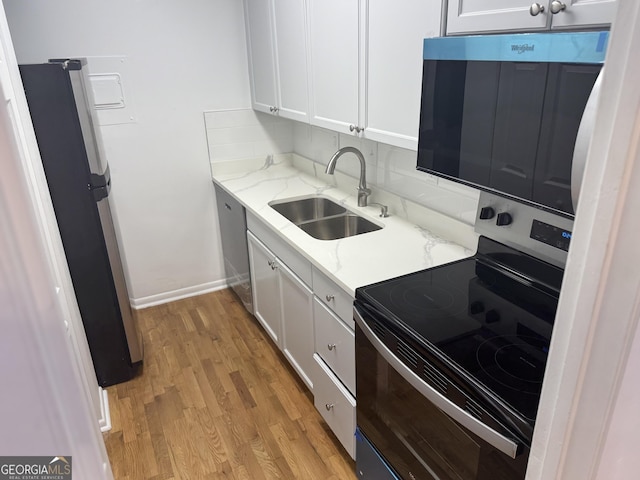
<svg viewBox="0 0 640 480">
<path fill-rule="evenodd" d="M 254 315 L 282 350 L 280 281 L 276 258 L 251 232 L 247 232 L 247 239 Z"/>
</svg>

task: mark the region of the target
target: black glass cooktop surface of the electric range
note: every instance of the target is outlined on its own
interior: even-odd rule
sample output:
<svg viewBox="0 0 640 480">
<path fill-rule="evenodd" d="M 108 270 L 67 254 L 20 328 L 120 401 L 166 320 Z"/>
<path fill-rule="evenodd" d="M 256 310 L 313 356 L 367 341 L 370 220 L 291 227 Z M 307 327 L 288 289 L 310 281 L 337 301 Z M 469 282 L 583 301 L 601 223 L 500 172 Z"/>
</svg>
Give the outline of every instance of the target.
<svg viewBox="0 0 640 480">
<path fill-rule="evenodd" d="M 356 299 L 533 422 L 562 273 L 480 237 L 474 257 L 362 287 Z"/>
</svg>

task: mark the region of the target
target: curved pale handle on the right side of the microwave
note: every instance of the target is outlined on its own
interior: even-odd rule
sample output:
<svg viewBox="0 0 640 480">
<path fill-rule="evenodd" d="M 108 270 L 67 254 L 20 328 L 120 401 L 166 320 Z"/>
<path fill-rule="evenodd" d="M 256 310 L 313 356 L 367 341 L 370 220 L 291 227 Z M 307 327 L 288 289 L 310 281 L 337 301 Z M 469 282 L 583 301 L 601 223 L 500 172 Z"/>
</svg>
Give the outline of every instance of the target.
<svg viewBox="0 0 640 480">
<path fill-rule="evenodd" d="M 584 113 L 578 127 L 578 135 L 576 136 L 576 144 L 573 149 L 573 160 L 571 161 L 571 203 L 573 203 L 573 211 L 578 208 L 578 197 L 580 196 L 580 186 L 582 185 L 582 177 L 584 175 L 584 167 L 587 162 L 587 154 L 589 153 L 589 143 L 593 136 L 593 127 L 596 123 L 596 108 L 598 106 L 598 98 L 600 97 L 600 85 L 602 84 L 602 73 L 604 68 L 600 70 L 591 94 L 587 99 L 584 107 Z"/>
</svg>

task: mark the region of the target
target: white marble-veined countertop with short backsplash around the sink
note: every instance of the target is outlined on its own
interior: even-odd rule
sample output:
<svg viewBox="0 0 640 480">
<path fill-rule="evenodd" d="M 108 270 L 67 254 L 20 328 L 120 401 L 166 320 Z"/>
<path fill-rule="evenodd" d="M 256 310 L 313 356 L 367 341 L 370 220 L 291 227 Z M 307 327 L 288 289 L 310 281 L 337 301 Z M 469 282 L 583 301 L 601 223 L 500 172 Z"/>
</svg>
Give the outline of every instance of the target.
<svg viewBox="0 0 640 480">
<path fill-rule="evenodd" d="M 471 256 L 477 245 L 473 227 L 385 192 L 370 200 L 389 205 L 358 207 L 357 181 L 325 175 L 296 155 L 212 165 L 212 178 L 248 212 L 271 228 L 311 264 L 352 297 L 356 288 Z M 383 226 L 381 230 L 338 240 L 315 239 L 269 206 L 273 200 L 322 195 Z"/>
</svg>

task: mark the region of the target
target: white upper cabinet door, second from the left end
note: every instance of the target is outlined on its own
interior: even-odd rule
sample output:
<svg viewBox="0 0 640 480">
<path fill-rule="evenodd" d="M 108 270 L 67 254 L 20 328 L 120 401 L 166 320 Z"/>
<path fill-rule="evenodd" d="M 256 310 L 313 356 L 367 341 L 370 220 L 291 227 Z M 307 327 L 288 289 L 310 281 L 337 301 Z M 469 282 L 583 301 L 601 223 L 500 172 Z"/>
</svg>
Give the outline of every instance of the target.
<svg viewBox="0 0 640 480">
<path fill-rule="evenodd" d="M 304 0 L 273 0 L 279 115 L 309 121 Z"/>
</svg>

